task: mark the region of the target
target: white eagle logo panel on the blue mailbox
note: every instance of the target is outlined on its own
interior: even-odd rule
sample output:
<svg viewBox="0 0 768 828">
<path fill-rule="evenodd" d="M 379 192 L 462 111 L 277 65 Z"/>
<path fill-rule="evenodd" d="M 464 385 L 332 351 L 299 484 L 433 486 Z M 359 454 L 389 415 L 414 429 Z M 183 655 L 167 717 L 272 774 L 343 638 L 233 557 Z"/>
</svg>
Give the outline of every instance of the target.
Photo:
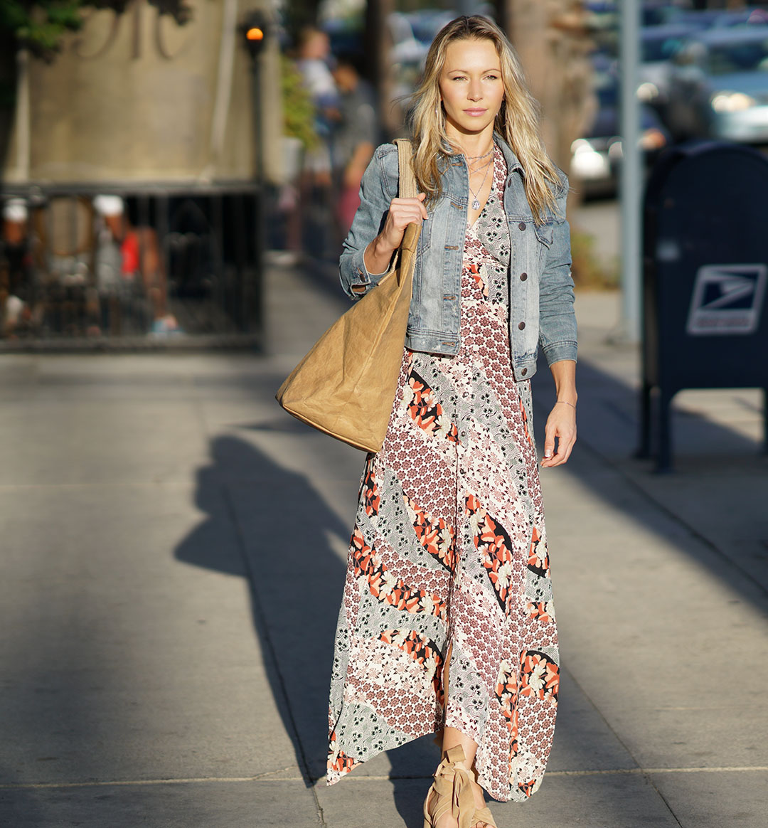
<svg viewBox="0 0 768 828">
<path fill-rule="evenodd" d="M 692 336 L 749 335 L 760 325 L 768 265 L 699 267 L 685 330 Z"/>
</svg>

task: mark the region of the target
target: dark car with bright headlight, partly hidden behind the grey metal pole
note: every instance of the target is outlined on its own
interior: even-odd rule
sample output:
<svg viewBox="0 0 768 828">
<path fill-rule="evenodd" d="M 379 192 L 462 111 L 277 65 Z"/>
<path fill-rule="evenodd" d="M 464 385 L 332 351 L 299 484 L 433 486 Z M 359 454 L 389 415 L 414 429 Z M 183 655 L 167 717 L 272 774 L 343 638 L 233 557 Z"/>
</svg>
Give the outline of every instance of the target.
<svg viewBox="0 0 768 828">
<path fill-rule="evenodd" d="M 571 144 L 570 171 L 574 187 L 584 195 L 613 195 L 623 155 L 619 136 L 618 78 L 615 65 L 607 63 L 604 55 L 600 55 L 595 64 L 593 84 L 598 109 L 591 128 Z M 647 104 L 641 104 L 640 125 L 638 141 L 644 150 L 647 167 L 669 145 L 670 133 Z"/>
</svg>

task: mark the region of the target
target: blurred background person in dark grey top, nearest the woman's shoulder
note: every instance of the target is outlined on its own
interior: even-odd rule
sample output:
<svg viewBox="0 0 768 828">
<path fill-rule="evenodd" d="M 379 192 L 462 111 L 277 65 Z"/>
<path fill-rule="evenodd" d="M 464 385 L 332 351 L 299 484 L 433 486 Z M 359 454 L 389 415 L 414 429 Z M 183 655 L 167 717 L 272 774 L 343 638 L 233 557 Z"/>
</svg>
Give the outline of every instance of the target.
<svg viewBox="0 0 768 828">
<path fill-rule="evenodd" d="M 354 55 L 338 55 L 334 66 L 338 89 L 338 123 L 333 160 L 336 216 L 344 238 L 360 206 L 360 182 L 379 139 L 376 96 L 362 78 Z"/>
</svg>

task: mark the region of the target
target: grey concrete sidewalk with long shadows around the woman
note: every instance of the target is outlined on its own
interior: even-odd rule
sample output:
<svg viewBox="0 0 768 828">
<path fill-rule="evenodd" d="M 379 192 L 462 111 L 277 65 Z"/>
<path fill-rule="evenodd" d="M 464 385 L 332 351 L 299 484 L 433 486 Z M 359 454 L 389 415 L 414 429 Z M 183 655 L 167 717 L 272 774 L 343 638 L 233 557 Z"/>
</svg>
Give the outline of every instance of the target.
<svg viewBox="0 0 768 828">
<path fill-rule="evenodd" d="M 636 352 L 604 343 L 617 305 L 578 296 L 578 445 L 542 474 L 550 769 L 492 811 L 499 828 L 761 828 L 760 399 L 684 392 L 678 471 L 631 460 Z M 272 395 L 346 305 L 272 268 L 266 306 L 262 357 L 0 357 L 0 826 L 420 828 L 428 739 L 319 778 L 362 454 Z"/>
</svg>

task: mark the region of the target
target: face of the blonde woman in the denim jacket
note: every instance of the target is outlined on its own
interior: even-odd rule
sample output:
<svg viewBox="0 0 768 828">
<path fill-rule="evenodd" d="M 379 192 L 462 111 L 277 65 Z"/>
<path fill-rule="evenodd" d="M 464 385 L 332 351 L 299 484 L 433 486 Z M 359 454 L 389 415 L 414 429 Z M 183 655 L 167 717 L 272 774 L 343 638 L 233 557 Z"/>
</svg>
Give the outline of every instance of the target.
<svg viewBox="0 0 768 828">
<path fill-rule="evenodd" d="M 504 99 L 501 61 L 493 41 L 451 43 L 438 83 L 449 135 L 492 129 Z"/>
</svg>

